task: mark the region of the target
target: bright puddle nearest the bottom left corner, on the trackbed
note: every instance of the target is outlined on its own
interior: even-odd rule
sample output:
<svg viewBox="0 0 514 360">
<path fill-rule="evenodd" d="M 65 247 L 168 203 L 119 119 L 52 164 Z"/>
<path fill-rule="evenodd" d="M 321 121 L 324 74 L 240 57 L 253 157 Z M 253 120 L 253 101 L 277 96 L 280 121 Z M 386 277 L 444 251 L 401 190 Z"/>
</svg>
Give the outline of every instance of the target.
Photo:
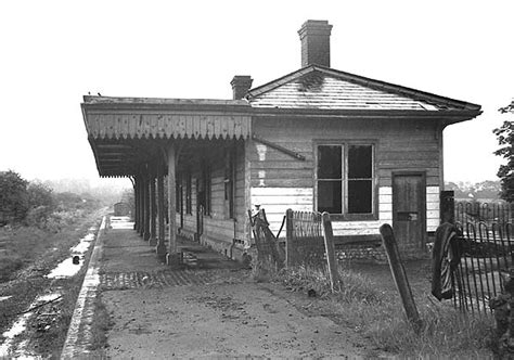
<svg viewBox="0 0 514 360">
<path fill-rule="evenodd" d="M 38 296 L 33 304 L 28 307 L 28 309 L 31 309 L 38 305 L 41 305 L 43 303 L 52 301 L 57 299 L 61 296 L 61 294 L 53 293 L 53 294 L 46 294 Z M 27 309 L 27 310 L 28 310 Z M 0 345 L 0 358 L 11 358 L 14 357 L 16 359 L 23 358 L 23 359 L 35 359 L 35 357 L 30 353 L 25 352 L 25 348 L 28 345 L 28 340 L 21 342 L 18 346 L 15 349 L 12 349 L 12 345 L 14 342 L 14 337 L 17 335 L 22 334 L 26 329 L 27 329 L 27 321 L 28 319 L 34 314 L 34 311 L 26 312 L 17 318 L 17 320 L 14 322 L 14 324 L 11 326 L 10 330 L 4 332 L 2 336 L 5 338 L 3 344 Z"/>
</svg>

